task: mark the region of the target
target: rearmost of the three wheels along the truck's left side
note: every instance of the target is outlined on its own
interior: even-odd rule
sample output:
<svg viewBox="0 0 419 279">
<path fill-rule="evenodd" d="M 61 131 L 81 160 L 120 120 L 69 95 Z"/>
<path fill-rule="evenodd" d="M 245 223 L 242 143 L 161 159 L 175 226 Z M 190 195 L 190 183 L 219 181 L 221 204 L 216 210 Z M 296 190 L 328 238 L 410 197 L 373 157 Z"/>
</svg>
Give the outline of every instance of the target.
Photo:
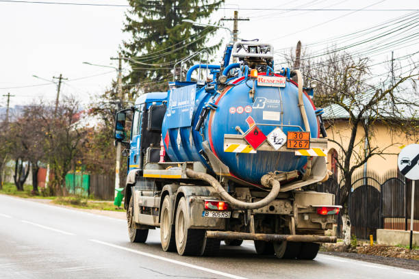
<svg viewBox="0 0 419 279">
<path fill-rule="evenodd" d="M 181 256 L 198 256 L 203 252 L 205 230 L 188 228 L 188 209 L 186 200 L 179 200 L 175 219 L 175 238 L 177 253 Z"/>
</svg>

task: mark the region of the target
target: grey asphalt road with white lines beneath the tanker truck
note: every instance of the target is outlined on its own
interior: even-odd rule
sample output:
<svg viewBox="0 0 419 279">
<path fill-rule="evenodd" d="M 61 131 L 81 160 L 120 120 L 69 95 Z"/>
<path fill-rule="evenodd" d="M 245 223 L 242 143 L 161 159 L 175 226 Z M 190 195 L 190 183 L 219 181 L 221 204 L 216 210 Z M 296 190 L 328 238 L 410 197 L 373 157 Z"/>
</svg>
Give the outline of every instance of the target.
<svg viewBox="0 0 419 279">
<path fill-rule="evenodd" d="M 319 254 L 257 256 L 250 241 L 220 256 L 163 252 L 159 230 L 130 243 L 124 220 L 0 195 L 0 278 L 417 278 L 419 272 Z"/>
</svg>

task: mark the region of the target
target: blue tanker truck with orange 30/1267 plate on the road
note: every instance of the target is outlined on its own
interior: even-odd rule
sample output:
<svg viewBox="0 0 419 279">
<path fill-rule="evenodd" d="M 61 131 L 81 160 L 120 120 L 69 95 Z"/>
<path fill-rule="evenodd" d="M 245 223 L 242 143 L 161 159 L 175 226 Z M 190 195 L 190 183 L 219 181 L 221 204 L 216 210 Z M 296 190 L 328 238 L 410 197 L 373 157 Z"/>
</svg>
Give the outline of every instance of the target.
<svg viewBox="0 0 419 279">
<path fill-rule="evenodd" d="M 325 231 L 340 206 L 311 190 L 329 177 L 322 110 L 299 70 L 274 72 L 273 53 L 262 42 L 227 44 L 220 65 L 199 59 L 182 77 L 200 51 L 175 65 L 167 92 L 118 111 L 131 242 L 160 228 L 162 249 L 180 255 L 253 240 L 258 254 L 313 259 L 320 243 L 336 241 Z"/>
</svg>

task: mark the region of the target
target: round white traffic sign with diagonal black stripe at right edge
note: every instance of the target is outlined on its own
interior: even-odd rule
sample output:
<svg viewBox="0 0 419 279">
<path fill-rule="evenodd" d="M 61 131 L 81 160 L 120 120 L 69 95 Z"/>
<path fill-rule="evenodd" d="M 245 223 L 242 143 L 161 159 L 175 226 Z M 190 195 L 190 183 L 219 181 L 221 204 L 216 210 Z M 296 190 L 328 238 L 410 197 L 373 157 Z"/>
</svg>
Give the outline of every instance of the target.
<svg viewBox="0 0 419 279">
<path fill-rule="evenodd" d="M 419 144 L 409 144 L 397 158 L 398 170 L 408 179 L 419 180 Z"/>
</svg>

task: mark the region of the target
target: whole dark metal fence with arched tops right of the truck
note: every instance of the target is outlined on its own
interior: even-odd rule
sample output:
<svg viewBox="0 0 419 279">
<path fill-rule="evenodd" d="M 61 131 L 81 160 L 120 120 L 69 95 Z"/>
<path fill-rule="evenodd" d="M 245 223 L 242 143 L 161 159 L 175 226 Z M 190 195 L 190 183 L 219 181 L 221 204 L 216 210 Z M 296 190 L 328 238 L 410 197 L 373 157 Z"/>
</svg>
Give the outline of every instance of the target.
<svg viewBox="0 0 419 279">
<path fill-rule="evenodd" d="M 378 176 L 374 172 L 353 176 L 353 188 L 348 197 L 351 234 L 358 239 L 377 239 L 377 228 L 410 229 L 411 183 L 403 174 L 392 170 Z M 416 183 L 418 185 L 419 183 Z M 318 185 L 318 191 L 339 196 L 340 187 L 334 177 Z M 415 191 L 414 230 L 419 231 L 419 190 Z M 339 200 L 336 198 L 335 204 Z M 338 216 L 338 235 L 342 218 Z"/>
</svg>

